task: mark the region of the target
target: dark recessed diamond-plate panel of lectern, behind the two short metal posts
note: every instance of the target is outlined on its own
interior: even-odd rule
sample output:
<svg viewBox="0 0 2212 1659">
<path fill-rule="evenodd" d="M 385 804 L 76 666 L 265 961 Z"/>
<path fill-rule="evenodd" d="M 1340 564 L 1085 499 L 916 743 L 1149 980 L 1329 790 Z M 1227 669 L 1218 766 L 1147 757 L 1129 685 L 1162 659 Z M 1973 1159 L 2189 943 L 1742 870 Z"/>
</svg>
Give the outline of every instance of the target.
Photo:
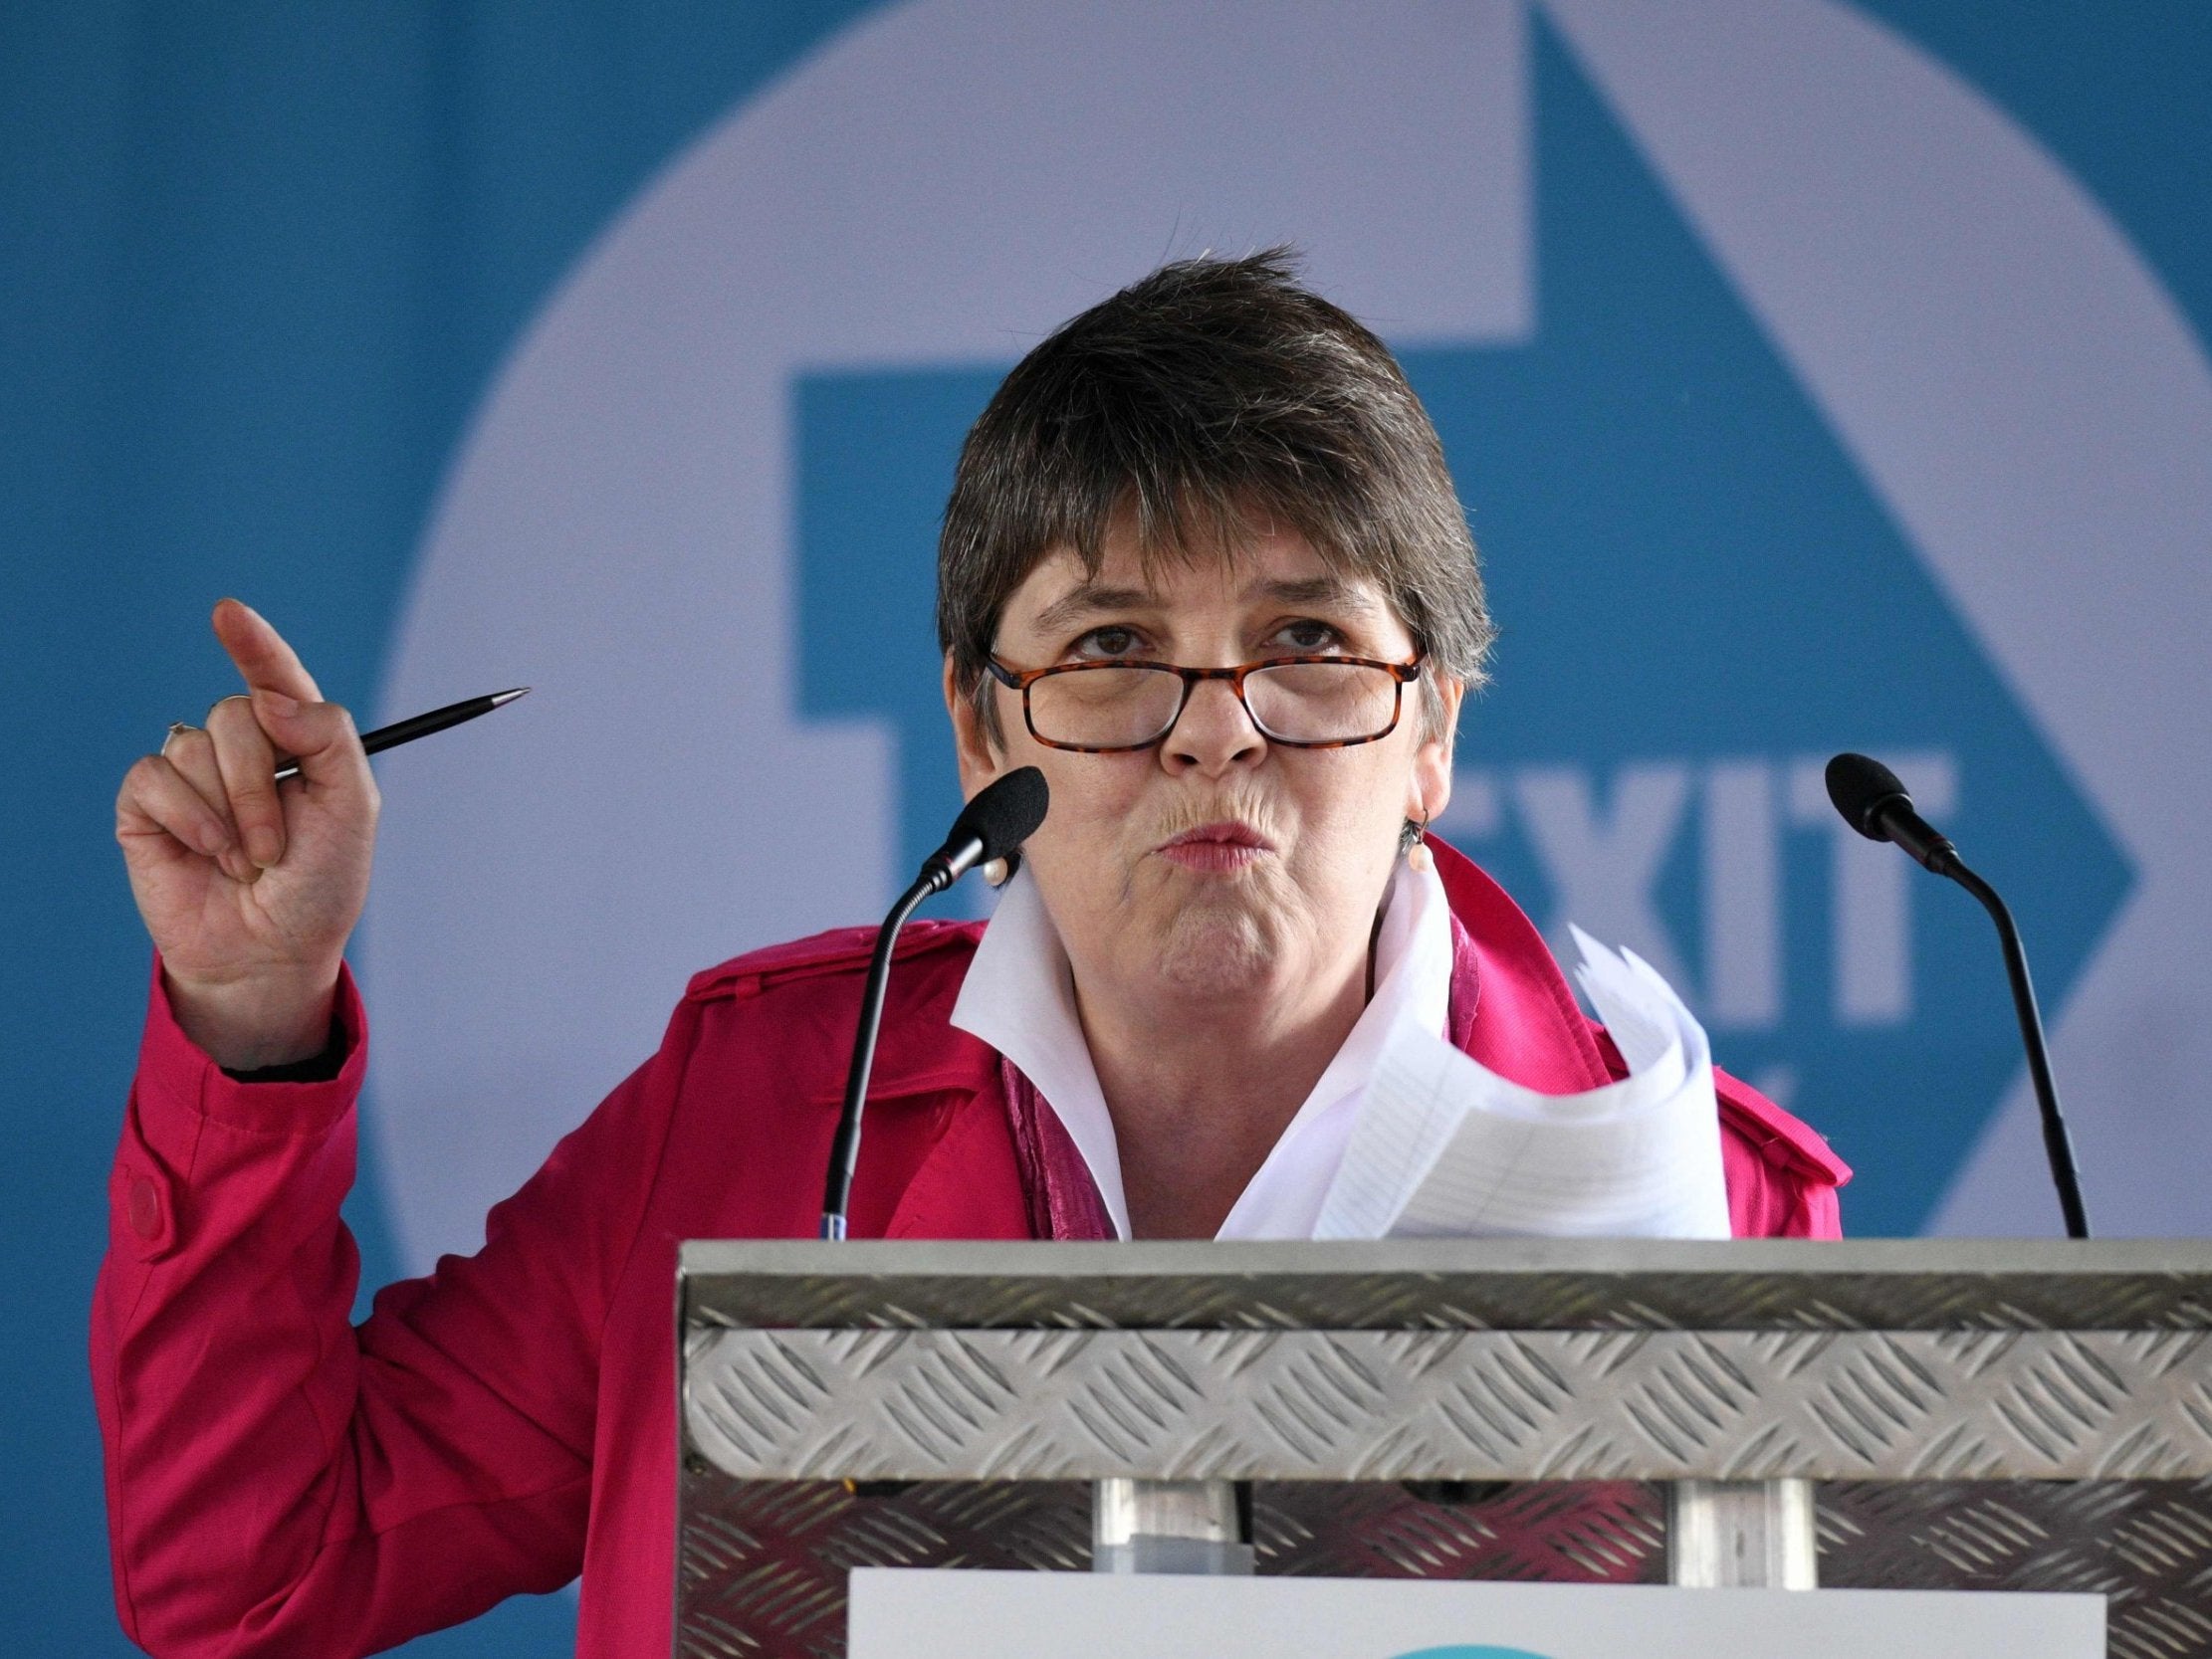
<svg viewBox="0 0 2212 1659">
<path fill-rule="evenodd" d="M 686 1475 L 684 1659 L 834 1659 L 854 1566 L 1086 1571 L 1091 1489 Z M 1843 1482 L 1820 1486 L 1820 1584 L 2086 1590 L 2112 1659 L 2212 1655 L 2212 1482 Z M 1396 1484 L 1261 1484 L 1261 1573 L 1663 1584 L 1659 1486 L 1526 1484 L 1469 1506 Z"/>
</svg>

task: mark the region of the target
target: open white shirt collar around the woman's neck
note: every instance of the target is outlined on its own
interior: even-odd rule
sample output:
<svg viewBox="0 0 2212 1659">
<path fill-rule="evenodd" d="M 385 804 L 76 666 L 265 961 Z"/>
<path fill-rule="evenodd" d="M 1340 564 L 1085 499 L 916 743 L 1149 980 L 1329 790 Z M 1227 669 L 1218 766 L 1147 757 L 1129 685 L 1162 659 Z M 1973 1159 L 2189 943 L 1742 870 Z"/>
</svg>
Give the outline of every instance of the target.
<svg viewBox="0 0 2212 1659">
<path fill-rule="evenodd" d="M 1451 902 L 1433 869 L 1413 872 L 1405 863 L 1391 878 L 1376 933 L 1376 993 L 1230 1208 L 1221 1239 L 1314 1234 L 1383 1040 L 1400 1018 L 1440 1035 L 1451 1018 Z M 1037 1086 L 1091 1168 L 1115 1232 L 1128 1239 L 1113 1113 L 1106 1110 L 1075 1013 L 1068 953 L 1029 872 L 1018 872 L 1000 889 L 998 911 L 969 962 L 951 1024 L 998 1048 Z"/>
</svg>

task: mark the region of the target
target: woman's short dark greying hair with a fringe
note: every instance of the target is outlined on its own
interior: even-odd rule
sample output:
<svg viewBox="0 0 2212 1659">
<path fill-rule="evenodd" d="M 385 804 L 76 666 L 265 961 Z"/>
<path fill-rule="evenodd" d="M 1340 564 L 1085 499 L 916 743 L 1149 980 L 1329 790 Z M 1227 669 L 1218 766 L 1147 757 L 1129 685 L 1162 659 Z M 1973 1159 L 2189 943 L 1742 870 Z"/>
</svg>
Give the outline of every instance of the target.
<svg viewBox="0 0 2212 1659">
<path fill-rule="evenodd" d="M 1290 248 L 1161 265 L 991 396 L 945 504 L 938 646 L 993 737 L 987 659 L 1006 602 L 1060 549 L 1097 575 L 1119 515 L 1146 560 L 1294 529 L 1383 588 L 1429 670 L 1471 692 L 1486 679 L 1495 628 L 1436 425 L 1389 347 L 1296 274 Z"/>
</svg>

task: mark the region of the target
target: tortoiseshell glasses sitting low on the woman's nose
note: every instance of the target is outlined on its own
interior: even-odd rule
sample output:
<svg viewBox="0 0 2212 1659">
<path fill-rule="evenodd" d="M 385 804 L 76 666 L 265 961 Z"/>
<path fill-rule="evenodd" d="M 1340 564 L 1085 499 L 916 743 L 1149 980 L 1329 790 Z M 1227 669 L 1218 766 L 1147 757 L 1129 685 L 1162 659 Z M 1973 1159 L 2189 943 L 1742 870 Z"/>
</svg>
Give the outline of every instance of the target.
<svg viewBox="0 0 2212 1659">
<path fill-rule="evenodd" d="M 1398 728 L 1405 688 L 1420 679 L 1420 657 L 1270 657 L 1241 668 L 1128 659 L 1006 668 L 989 657 L 987 666 L 1000 686 L 1022 692 L 1033 739 L 1082 754 L 1152 748 L 1175 730 L 1201 679 L 1225 679 L 1272 743 L 1298 750 L 1374 743 Z"/>
</svg>

